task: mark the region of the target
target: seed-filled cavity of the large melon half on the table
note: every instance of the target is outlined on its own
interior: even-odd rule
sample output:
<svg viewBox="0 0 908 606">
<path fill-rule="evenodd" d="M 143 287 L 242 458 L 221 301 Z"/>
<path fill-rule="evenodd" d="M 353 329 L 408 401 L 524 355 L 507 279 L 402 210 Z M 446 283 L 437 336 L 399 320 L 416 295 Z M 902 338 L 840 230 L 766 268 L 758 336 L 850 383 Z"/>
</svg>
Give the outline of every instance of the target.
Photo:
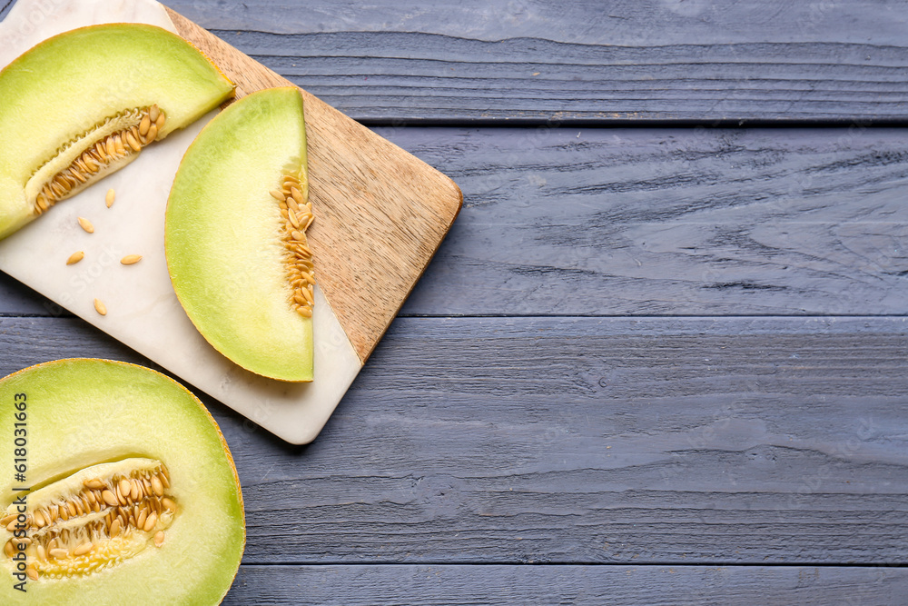
<svg viewBox="0 0 908 606">
<path fill-rule="evenodd" d="M 0 513 L 3 563 L 15 569 L 25 551 L 32 581 L 67 579 L 113 568 L 164 544 L 177 505 L 160 461 L 133 458 L 101 463 L 28 495 L 25 522 L 15 504 Z M 24 525 L 25 538 L 11 537 Z"/>
</svg>

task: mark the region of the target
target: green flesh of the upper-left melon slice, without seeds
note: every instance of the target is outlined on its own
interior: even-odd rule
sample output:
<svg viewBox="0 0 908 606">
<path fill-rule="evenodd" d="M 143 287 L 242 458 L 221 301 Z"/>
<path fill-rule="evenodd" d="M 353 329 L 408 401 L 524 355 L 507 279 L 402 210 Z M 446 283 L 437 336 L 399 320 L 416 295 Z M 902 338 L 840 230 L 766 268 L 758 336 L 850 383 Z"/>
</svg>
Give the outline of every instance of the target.
<svg viewBox="0 0 908 606">
<path fill-rule="evenodd" d="M 32 175 L 106 118 L 157 104 L 161 139 L 232 90 L 192 45 L 152 25 L 92 25 L 36 45 L 0 72 L 0 237 L 35 218 Z"/>
</svg>

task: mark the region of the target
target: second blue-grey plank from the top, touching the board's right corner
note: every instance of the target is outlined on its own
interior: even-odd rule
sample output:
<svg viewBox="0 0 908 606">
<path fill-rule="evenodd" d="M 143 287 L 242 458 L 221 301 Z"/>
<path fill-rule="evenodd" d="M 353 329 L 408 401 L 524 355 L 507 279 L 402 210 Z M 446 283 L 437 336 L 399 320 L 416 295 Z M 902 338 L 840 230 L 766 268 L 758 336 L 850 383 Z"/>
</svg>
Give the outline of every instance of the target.
<svg viewBox="0 0 908 606">
<path fill-rule="evenodd" d="M 377 130 L 467 192 L 404 315 L 908 313 L 903 129 Z"/>
</svg>

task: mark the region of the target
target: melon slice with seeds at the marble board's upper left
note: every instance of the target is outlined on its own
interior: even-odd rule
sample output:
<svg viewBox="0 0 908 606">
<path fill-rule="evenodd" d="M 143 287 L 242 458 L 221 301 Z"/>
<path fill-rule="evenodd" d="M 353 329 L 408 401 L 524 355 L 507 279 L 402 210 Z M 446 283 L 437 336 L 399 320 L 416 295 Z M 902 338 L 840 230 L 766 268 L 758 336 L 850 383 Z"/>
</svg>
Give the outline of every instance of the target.
<svg viewBox="0 0 908 606">
<path fill-rule="evenodd" d="M 211 111 L 232 83 L 178 35 L 91 25 L 0 72 L 0 237 Z"/>
</svg>

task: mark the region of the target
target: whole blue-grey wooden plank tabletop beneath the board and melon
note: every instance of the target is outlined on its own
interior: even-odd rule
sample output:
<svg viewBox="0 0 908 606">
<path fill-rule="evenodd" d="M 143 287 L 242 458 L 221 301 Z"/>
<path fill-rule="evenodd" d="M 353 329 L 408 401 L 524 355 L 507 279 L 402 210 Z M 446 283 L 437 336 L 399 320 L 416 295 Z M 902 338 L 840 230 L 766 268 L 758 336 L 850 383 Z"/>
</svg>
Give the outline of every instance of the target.
<svg viewBox="0 0 908 606">
<path fill-rule="evenodd" d="M 908 601 L 903 2 L 168 5 L 464 192 L 314 443 L 205 401 L 225 603 Z"/>
</svg>

